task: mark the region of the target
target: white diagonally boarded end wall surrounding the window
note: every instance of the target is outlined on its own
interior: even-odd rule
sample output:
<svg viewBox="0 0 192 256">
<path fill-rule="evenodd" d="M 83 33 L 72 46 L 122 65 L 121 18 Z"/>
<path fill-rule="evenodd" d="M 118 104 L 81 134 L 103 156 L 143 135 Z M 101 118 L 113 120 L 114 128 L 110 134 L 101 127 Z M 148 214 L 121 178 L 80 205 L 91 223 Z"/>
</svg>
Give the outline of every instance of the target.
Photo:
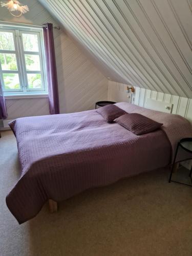
<svg viewBox="0 0 192 256">
<path fill-rule="evenodd" d="M 41 25 L 56 24 L 50 13 L 36 0 L 26 0 L 30 11 L 20 18 L 0 7 L 0 20 Z M 61 113 L 94 108 L 98 100 L 106 100 L 108 81 L 80 51 L 63 30 L 54 29 L 54 44 Z M 8 119 L 49 114 L 47 98 L 7 99 Z"/>
</svg>

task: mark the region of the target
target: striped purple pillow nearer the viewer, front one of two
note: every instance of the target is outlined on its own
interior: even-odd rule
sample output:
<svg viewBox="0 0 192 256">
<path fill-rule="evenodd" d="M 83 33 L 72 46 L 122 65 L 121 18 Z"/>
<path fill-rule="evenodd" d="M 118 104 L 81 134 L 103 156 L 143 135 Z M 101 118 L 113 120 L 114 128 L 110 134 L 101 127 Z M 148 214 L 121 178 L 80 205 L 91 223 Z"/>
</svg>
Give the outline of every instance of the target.
<svg viewBox="0 0 192 256">
<path fill-rule="evenodd" d="M 153 132 L 163 125 L 137 113 L 125 114 L 114 121 L 136 135 Z"/>
</svg>

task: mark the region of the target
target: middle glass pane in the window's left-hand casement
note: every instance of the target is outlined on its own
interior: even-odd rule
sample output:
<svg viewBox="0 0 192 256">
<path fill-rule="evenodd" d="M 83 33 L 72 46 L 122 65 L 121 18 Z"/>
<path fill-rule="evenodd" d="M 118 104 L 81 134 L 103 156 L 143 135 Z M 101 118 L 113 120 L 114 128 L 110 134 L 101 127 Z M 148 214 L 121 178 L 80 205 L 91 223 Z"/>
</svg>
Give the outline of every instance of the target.
<svg viewBox="0 0 192 256">
<path fill-rule="evenodd" d="M 0 53 L 2 70 L 17 70 L 17 61 L 15 54 Z"/>
</svg>

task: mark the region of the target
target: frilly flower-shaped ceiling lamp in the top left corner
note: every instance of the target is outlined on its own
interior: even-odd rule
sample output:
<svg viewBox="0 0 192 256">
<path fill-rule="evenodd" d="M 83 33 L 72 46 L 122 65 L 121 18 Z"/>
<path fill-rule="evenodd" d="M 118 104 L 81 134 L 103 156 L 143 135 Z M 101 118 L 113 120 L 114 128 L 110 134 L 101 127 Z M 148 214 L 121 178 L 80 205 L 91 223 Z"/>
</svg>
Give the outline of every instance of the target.
<svg viewBox="0 0 192 256">
<path fill-rule="evenodd" d="M 26 13 L 29 11 L 29 8 L 27 5 L 22 5 L 20 2 L 17 0 L 9 0 L 6 2 L 1 2 L 2 7 L 6 7 L 11 15 L 15 17 L 20 17 L 22 16 L 23 13 Z M 15 12 L 15 14 L 13 14 Z"/>
</svg>

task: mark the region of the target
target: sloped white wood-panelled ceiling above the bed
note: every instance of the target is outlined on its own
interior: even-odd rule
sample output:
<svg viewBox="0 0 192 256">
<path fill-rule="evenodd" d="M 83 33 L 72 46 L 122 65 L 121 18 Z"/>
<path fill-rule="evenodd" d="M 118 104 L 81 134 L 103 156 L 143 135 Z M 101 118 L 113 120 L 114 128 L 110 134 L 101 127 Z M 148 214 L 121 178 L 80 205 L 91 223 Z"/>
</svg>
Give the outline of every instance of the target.
<svg viewBox="0 0 192 256">
<path fill-rule="evenodd" d="M 39 1 L 114 80 L 192 98 L 191 0 Z"/>
</svg>

